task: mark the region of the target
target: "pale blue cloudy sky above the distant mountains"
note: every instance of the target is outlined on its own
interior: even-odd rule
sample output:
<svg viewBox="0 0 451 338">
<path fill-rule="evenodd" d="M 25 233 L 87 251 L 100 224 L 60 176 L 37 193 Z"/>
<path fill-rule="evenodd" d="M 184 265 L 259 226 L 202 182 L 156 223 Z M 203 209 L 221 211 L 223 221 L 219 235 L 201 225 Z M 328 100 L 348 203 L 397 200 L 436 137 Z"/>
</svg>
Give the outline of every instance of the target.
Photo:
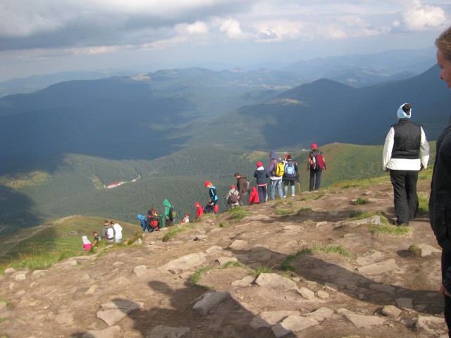
<svg viewBox="0 0 451 338">
<path fill-rule="evenodd" d="M 107 68 L 276 68 L 433 47 L 449 0 L 0 0 L 0 81 Z"/>
</svg>

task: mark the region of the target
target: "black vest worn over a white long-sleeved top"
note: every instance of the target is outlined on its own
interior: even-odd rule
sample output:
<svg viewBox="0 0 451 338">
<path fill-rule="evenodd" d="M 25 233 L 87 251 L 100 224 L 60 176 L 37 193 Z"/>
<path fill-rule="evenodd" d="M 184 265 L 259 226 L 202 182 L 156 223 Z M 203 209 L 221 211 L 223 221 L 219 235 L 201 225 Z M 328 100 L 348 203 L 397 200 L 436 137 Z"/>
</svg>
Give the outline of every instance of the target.
<svg viewBox="0 0 451 338">
<path fill-rule="evenodd" d="M 402 118 L 393 125 L 395 129 L 395 143 L 392 158 L 419 158 L 421 146 L 421 127 L 409 118 Z"/>
</svg>

